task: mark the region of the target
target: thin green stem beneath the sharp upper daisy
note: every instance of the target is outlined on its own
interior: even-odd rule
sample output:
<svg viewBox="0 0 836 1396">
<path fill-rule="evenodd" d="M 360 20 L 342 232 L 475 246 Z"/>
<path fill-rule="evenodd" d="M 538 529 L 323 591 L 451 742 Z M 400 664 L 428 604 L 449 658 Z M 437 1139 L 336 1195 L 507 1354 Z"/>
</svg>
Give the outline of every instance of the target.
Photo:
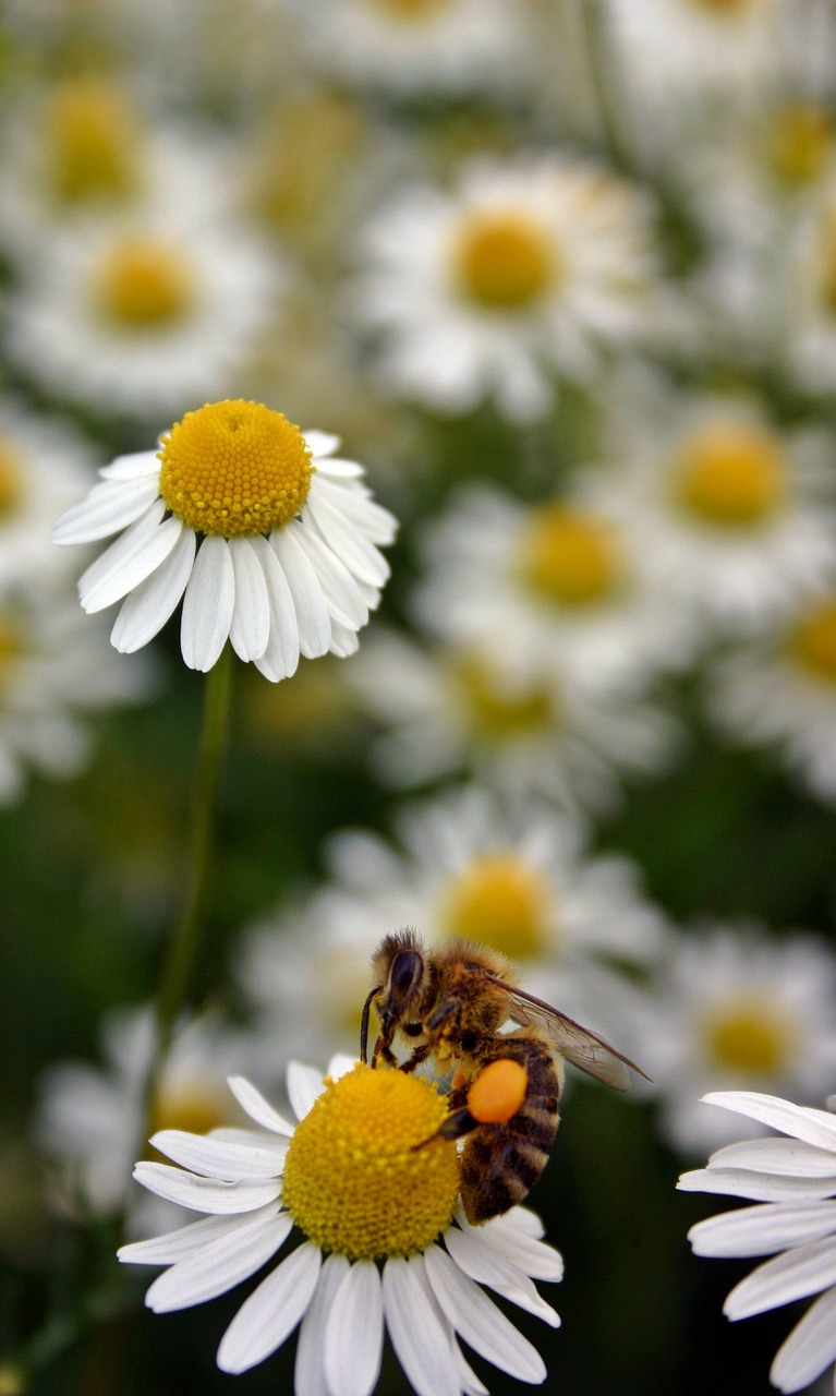
<svg viewBox="0 0 836 1396">
<path fill-rule="evenodd" d="M 223 649 L 209 670 L 204 697 L 204 720 L 191 797 L 191 832 L 187 859 L 183 910 L 169 941 L 155 1009 L 155 1047 L 145 1092 L 145 1129 L 142 1150 L 154 1111 L 154 1101 L 165 1069 L 177 1013 L 188 988 L 197 956 L 212 856 L 218 778 L 226 740 L 232 691 L 232 648 Z"/>
</svg>

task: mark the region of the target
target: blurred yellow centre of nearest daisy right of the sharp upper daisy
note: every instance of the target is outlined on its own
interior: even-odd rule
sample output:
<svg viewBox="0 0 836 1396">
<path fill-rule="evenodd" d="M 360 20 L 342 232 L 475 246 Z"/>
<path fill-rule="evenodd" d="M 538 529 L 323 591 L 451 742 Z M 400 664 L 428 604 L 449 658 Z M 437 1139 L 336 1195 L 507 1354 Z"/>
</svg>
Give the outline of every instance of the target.
<svg viewBox="0 0 836 1396">
<path fill-rule="evenodd" d="M 532 511 L 522 539 L 521 572 L 544 600 L 589 606 L 618 589 L 621 550 L 604 519 L 562 504 L 542 504 Z"/>
</svg>

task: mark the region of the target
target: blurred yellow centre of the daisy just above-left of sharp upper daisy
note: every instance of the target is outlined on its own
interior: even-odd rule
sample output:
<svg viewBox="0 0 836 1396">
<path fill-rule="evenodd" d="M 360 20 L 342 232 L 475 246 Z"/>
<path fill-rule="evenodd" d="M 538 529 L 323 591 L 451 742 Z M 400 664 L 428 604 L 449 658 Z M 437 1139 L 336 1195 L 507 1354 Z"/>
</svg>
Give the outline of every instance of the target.
<svg viewBox="0 0 836 1396">
<path fill-rule="evenodd" d="M 130 237 L 112 247 L 96 268 L 92 295 L 99 313 L 120 329 L 158 329 L 188 314 L 195 286 L 177 247 Z"/>
</svg>

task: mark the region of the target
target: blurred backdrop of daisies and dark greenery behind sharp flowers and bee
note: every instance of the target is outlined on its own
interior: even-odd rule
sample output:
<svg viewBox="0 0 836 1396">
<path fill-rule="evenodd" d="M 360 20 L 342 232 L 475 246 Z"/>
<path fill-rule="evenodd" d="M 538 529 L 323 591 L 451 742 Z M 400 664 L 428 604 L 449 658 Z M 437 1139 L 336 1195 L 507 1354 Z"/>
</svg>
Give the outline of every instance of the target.
<svg viewBox="0 0 836 1396">
<path fill-rule="evenodd" d="M 205 681 L 176 623 L 117 655 L 49 526 L 234 396 L 402 526 L 356 656 L 237 666 L 159 1121 L 356 1050 L 388 930 L 483 940 L 652 1078 L 567 1089 L 548 1389 L 769 1389 L 791 1315 L 726 1323 L 674 1182 L 747 1132 L 705 1090 L 836 1087 L 835 40 L 832 0 L 7 0 L 1 1392 L 232 1389 L 240 1294 L 152 1318 L 113 1258 L 172 1224 L 130 1168 Z"/>
</svg>

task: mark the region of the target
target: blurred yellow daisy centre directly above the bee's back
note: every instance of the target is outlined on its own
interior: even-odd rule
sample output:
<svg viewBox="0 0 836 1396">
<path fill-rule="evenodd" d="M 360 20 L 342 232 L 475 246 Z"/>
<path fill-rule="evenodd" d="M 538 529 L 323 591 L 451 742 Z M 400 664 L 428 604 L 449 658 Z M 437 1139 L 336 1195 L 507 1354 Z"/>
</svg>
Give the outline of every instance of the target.
<svg viewBox="0 0 836 1396">
<path fill-rule="evenodd" d="M 540 871 L 514 853 L 486 853 L 442 893 L 445 935 L 463 935 L 512 959 L 542 955 L 548 945 L 551 893 Z"/>
</svg>

